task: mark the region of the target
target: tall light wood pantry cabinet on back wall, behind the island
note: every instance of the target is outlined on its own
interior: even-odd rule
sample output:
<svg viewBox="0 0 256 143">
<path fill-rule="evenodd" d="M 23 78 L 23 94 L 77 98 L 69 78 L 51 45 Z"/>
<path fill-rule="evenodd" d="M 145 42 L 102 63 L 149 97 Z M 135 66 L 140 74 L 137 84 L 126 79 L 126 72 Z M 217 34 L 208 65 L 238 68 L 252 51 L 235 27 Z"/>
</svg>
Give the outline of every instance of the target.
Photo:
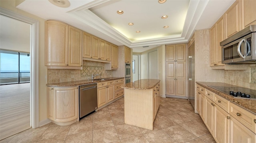
<svg viewBox="0 0 256 143">
<path fill-rule="evenodd" d="M 186 96 L 186 45 L 166 45 L 166 95 Z"/>
</svg>

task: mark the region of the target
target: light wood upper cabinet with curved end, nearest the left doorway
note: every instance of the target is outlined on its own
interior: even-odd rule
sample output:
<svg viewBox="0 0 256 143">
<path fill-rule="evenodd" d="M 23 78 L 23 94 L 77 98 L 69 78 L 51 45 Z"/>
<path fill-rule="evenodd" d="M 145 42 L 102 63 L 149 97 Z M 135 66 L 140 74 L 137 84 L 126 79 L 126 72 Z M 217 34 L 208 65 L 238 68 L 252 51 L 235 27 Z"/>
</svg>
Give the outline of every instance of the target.
<svg viewBox="0 0 256 143">
<path fill-rule="evenodd" d="M 45 65 L 54 69 L 82 67 L 82 31 L 55 20 L 45 22 Z"/>
</svg>

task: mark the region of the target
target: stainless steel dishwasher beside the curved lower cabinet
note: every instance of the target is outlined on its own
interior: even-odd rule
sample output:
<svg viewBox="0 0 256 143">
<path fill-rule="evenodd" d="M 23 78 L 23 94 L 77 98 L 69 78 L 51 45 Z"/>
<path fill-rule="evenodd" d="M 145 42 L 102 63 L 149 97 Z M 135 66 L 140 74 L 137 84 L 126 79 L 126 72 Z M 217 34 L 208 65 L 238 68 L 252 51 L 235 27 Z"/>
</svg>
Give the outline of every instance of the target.
<svg viewBox="0 0 256 143">
<path fill-rule="evenodd" d="M 79 86 L 79 119 L 97 108 L 97 83 Z"/>
</svg>

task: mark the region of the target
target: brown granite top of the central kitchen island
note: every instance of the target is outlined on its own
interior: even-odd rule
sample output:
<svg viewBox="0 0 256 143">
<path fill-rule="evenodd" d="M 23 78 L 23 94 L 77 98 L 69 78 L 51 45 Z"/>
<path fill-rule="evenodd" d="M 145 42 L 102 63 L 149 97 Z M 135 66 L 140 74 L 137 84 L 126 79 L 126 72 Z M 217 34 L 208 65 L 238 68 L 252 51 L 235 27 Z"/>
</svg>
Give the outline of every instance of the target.
<svg viewBox="0 0 256 143">
<path fill-rule="evenodd" d="M 152 89 L 160 80 L 158 79 L 141 79 L 134 82 L 126 83 L 121 86 L 125 89 L 137 89 L 137 90 L 147 90 Z"/>
</svg>

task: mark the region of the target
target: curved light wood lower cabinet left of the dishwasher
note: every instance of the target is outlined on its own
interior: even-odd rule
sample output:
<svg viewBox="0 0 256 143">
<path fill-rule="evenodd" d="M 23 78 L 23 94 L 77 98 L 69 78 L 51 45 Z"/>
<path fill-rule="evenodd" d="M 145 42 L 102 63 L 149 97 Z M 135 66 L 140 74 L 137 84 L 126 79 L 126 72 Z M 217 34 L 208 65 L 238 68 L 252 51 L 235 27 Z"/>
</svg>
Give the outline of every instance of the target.
<svg viewBox="0 0 256 143">
<path fill-rule="evenodd" d="M 47 117 L 58 125 L 78 119 L 78 87 L 47 88 Z"/>
</svg>

